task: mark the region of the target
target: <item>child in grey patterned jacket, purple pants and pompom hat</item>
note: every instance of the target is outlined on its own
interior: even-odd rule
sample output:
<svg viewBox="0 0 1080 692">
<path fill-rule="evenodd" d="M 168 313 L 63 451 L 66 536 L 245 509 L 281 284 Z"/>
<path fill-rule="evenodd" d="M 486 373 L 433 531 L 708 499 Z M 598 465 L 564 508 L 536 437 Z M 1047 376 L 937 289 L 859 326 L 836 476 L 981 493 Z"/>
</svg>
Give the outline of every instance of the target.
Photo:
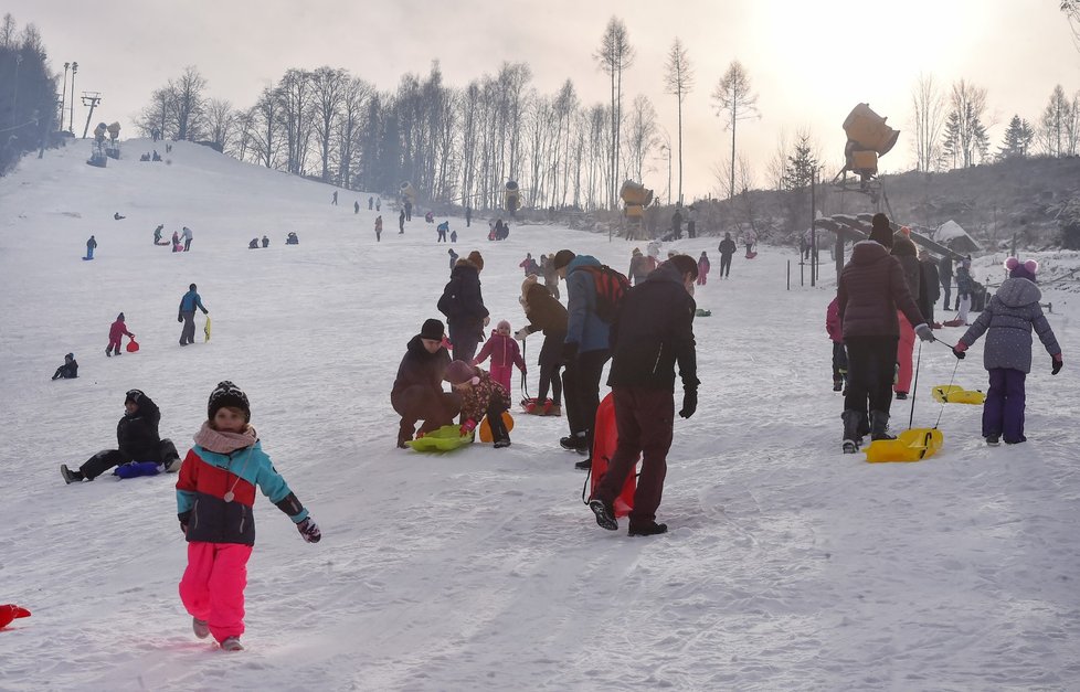
<svg viewBox="0 0 1080 692">
<path fill-rule="evenodd" d="M 1050 354 L 1050 374 L 1058 374 L 1062 364 L 1061 347 L 1039 305 L 1042 294 L 1035 285 L 1039 263 L 1028 259 L 1020 264 L 1016 257 L 1009 257 L 1005 268 L 1009 270 L 1009 278 L 953 348 L 956 358 L 962 359 L 968 347 L 986 332 L 983 366 L 989 371 L 989 391 L 983 404 L 983 437 L 988 445 L 999 444 L 1003 436 L 1007 445 L 1027 440 L 1024 436 L 1024 380 L 1031 372 L 1033 329 Z M 956 278 L 960 278 L 960 272 Z"/>
</svg>

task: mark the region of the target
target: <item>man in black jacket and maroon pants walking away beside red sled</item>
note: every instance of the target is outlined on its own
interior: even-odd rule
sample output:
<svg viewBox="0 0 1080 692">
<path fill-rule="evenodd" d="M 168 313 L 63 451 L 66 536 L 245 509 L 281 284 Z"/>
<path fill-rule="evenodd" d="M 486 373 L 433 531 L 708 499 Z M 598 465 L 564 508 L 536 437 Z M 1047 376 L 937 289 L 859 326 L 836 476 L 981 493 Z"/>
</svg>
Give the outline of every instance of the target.
<svg viewBox="0 0 1080 692">
<path fill-rule="evenodd" d="M 656 510 L 667 476 L 667 453 L 675 425 L 675 365 L 682 379 L 682 408 L 689 418 L 697 411 L 698 376 L 693 342 L 696 305 L 690 289 L 697 278 L 693 258 L 677 255 L 649 274 L 623 298 L 612 324 L 611 376 L 618 443 L 607 472 L 600 479 L 589 509 L 603 529 L 618 529 L 614 502 L 638 454 L 642 473 L 629 512 L 629 535 L 656 535 L 667 524 L 656 522 Z"/>
</svg>

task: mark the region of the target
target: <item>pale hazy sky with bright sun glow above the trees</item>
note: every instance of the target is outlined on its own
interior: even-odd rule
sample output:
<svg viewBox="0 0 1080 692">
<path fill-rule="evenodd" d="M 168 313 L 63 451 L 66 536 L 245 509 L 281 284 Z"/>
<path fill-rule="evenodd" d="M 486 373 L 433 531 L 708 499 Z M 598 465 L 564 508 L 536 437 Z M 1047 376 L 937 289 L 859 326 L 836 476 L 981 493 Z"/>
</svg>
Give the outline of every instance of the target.
<svg viewBox="0 0 1080 692">
<path fill-rule="evenodd" d="M 527 62 L 532 85 L 551 94 L 569 77 L 585 104 L 608 98 L 593 53 L 607 20 L 620 17 L 637 51 L 624 75 L 628 104 L 648 96 L 660 125 L 677 132 L 676 100 L 664 94 L 666 54 L 686 45 L 696 85 L 684 103 L 684 193 L 716 192 L 713 170 L 730 134 L 710 95 L 732 60 L 760 95 L 761 117 L 740 124 L 739 150 L 759 184 L 783 132 L 808 130 L 824 158 L 843 160 L 847 113 L 868 102 L 910 130 L 911 87 L 920 72 L 944 85 L 965 78 L 988 93 L 996 149 L 1014 113 L 1037 120 L 1056 84 L 1080 89 L 1080 53 L 1058 0 L 8 0 L 19 26 L 41 30 L 54 71 L 80 64 L 75 89 L 98 91 L 95 121 L 119 120 L 121 137 L 151 92 L 195 65 L 209 95 L 251 106 L 288 67 L 343 67 L 381 91 L 438 60 L 445 83 L 465 86 L 502 61 Z M 86 110 L 76 99 L 76 132 Z M 912 167 L 911 137 L 882 158 L 886 171 Z M 678 161 L 675 161 L 677 170 Z M 646 184 L 664 194 L 667 160 L 657 155 Z M 677 177 L 677 173 L 676 173 Z M 675 185 L 677 187 L 677 182 Z"/>
</svg>

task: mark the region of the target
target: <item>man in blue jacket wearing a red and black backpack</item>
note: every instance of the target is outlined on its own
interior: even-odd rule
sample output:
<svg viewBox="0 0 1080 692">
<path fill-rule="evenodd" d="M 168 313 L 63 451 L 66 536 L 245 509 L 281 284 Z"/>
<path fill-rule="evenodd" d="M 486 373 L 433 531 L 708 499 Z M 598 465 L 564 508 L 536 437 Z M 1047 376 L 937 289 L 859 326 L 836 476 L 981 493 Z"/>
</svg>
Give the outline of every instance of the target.
<svg viewBox="0 0 1080 692">
<path fill-rule="evenodd" d="M 595 257 L 574 255 L 569 249 L 555 253 L 552 266 L 567 281 L 567 340 L 563 344 L 563 392 L 570 435 L 559 440 L 564 449 L 592 453 L 593 425 L 600 407 L 600 379 L 611 358 L 608 332 L 618 301 L 629 281 Z M 592 459 L 576 468 L 592 468 Z"/>
</svg>

